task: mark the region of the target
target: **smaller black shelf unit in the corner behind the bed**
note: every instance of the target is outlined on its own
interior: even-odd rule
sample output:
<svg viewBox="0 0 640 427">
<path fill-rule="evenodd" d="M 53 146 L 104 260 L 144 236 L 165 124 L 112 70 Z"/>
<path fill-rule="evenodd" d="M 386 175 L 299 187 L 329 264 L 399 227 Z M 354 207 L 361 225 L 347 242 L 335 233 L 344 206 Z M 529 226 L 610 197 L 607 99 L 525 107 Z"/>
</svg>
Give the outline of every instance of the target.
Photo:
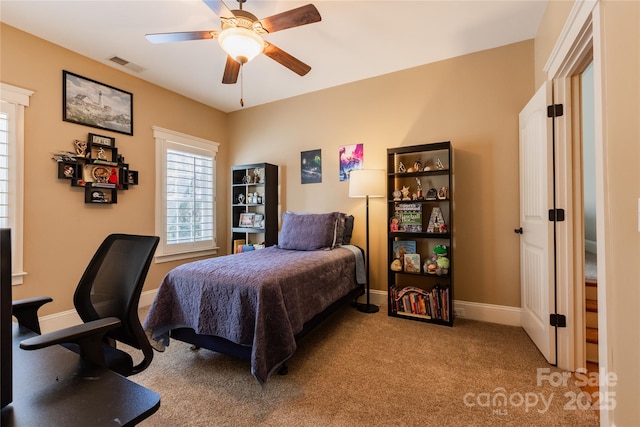
<svg viewBox="0 0 640 427">
<path fill-rule="evenodd" d="M 250 218 L 255 220 L 252 224 L 247 222 Z M 265 246 L 278 243 L 277 165 L 253 163 L 231 168 L 231 221 L 234 251 L 240 241 Z"/>
</svg>

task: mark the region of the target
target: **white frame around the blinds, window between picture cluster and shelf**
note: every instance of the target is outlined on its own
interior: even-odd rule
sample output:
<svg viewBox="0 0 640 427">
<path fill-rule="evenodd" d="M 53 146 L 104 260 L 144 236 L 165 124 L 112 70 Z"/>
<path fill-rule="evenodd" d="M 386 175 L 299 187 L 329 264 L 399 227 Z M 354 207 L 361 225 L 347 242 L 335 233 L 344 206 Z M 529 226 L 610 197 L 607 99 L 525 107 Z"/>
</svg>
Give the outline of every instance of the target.
<svg viewBox="0 0 640 427">
<path fill-rule="evenodd" d="M 169 262 L 187 258 L 215 255 L 218 252 L 216 230 L 216 161 L 219 143 L 190 136 L 184 133 L 153 126 L 153 137 L 156 145 L 156 218 L 155 230 L 160 236 L 160 244 L 156 250 L 155 262 Z M 183 151 L 211 156 L 213 158 L 213 239 L 203 242 L 179 245 L 167 244 L 167 151 L 182 149 Z"/>
</svg>

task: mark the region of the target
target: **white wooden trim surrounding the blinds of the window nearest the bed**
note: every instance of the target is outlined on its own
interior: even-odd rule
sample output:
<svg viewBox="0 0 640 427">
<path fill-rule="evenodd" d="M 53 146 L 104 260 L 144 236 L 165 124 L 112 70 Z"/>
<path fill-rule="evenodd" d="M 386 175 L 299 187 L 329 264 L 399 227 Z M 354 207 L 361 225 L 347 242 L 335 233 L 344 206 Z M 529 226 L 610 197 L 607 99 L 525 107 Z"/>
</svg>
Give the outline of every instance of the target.
<svg viewBox="0 0 640 427">
<path fill-rule="evenodd" d="M 217 233 L 216 233 L 216 185 L 214 182 L 213 187 L 213 247 L 207 249 L 195 249 L 189 252 L 172 252 L 167 246 L 164 244 L 164 239 L 162 236 L 166 234 L 166 198 L 165 198 L 165 189 L 167 187 L 166 174 L 165 174 L 165 166 L 166 166 L 166 153 L 167 153 L 167 145 L 168 144 L 184 144 L 185 146 L 201 148 L 206 151 L 207 154 L 213 153 L 214 162 L 213 162 L 213 176 L 214 179 L 216 177 L 216 162 L 215 158 L 218 153 L 218 146 L 220 145 L 217 142 L 209 141 L 206 139 L 198 138 L 195 136 L 187 135 L 184 133 L 172 131 L 169 129 L 164 129 L 158 126 L 152 126 L 153 129 L 153 137 L 156 141 L 156 219 L 155 219 L 155 230 L 158 236 L 161 236 L 160 244 L 156 250 L 155 254 L 155 262 L 169 262 L 169 261 L 178 261 L 187 258 L 195 258 L 201 256 L 209 256 L 215 255 L 218 252 L 219 247 L 217 246 Z"/>
</svg>

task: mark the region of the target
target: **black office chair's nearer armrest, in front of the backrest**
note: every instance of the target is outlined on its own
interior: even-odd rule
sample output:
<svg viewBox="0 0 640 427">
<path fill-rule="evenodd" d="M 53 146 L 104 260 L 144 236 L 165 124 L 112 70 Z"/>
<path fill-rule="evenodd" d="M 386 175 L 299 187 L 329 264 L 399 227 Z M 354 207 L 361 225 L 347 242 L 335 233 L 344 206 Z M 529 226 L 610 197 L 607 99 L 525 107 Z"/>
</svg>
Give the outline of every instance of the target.
<svg viewBox="0 0 640 427">
<path fill-rule="evenodd" d="M 117 317 L 106 317 L 69 328 L 38 335 L 20 342 L 23 350 L 38 350 L 56 344 L 74 343 L 80 347 L 80 357 L 98 366 L 106 367 L 104 335 L 120 326 Z"/>
</svg>

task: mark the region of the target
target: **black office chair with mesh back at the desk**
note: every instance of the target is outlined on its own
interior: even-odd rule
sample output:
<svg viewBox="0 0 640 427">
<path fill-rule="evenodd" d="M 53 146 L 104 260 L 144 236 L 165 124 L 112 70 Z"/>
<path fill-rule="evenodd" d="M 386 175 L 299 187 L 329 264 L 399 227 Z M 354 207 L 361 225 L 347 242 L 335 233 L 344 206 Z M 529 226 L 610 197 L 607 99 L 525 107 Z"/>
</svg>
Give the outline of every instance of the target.
<svg viewBox="0 0 640 427">
<path fill-rule="evenodd" d="M 153 254 L 156 236 L 112 234 L 98 248 L 73 296 L 84 324 L 29 338 L 20 348 L 36 350 L 63 344 L 81 358 L 121 375 L 141 372 L 153 359 L 153 349 L 138 318 L 138 303 Z M 21 326 L 40 333 L 37 310 L 49 297 L 14 301 L 13 315 Z M 143 360 L 116 348 L 116 341 L 142 351 Z"/>
</svg>

